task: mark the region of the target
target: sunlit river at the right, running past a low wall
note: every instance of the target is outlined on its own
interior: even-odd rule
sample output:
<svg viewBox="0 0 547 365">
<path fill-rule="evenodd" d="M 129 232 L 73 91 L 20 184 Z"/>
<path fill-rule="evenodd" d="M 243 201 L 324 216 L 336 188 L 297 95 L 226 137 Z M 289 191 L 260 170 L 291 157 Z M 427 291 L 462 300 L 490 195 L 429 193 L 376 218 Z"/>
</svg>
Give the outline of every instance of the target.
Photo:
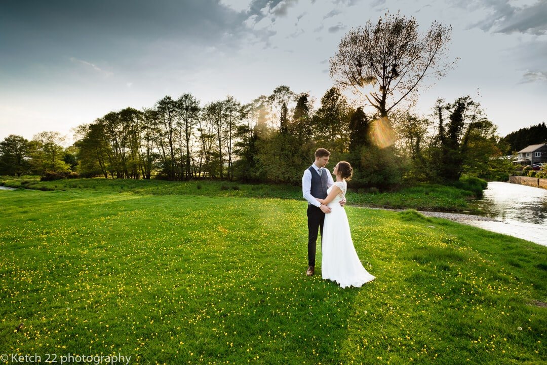
<svg viewBox="0 0 547 365">
<path fill-rule="evenodd" d="M 472 202 L 490 220 L 468 219 L 465 224 L 519 237 L 547 246 L 547 189 L 489 182 L 484 197 Z"/>
</svg>

